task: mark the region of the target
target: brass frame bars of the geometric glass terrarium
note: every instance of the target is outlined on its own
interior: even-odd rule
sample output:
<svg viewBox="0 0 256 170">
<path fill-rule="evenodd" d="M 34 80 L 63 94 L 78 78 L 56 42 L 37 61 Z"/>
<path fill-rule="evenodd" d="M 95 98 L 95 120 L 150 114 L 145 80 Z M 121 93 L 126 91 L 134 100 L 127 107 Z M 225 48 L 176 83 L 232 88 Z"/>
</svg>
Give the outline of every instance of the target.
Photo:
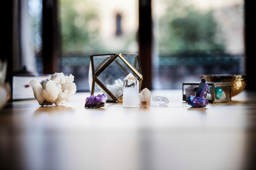
<svg viewBox="0 0 256 170">
<path fill-rule="evenodd" d="M 102 63 L 97 66 L 97 68 L 94 68 L 94 58 L 96 57 L 104 57 L 106 56 L 106 60 L 103 60 Z M 128 70 L 126 68 L 124 68 L 123 66 L 121 66 L 118 62 L 116 62 L 116 64 L 118 64 L 118 66 L 121 67 L 121 69 L 123 69 L 127 75 L 132 72 L 132 74 L 139 80 L 139 91 L 141 90 L 141 85 L 142 85 L 142 80 L 143 80 L 143 75 L 141 73 L 141 68 L 140 68 L 140 63 L 139 63 L 139 55 L 135 54 L 135 53 L 112 53 L 112 54 L 91 54 L 90 55 L 90 67 L 91 67 L 91 76 L 92 76 L 92 84 L 91 84 L 91 95 L 94 94 L 94 87 L 95 87 L 95 83 L 97 83 L 102 89 L 103 91 L 105 91 L 111 98 L 111 99 L 107 99 L 107 102 L 122 102 L 123 101 L 123 95 L 121 96 L 115 96 L 107 87 L 106 85 L 100 81 L 100 79 L 98 78 L 99 75 L 101 75 L 101 73 L 108 68 L 108 66 L 110 64 L 112 64 L 112 62 L 115 62 L 117 57 L 119 57 L 119 59 L 121 60 L 121 62 L 123 62 L 124 64 L 126 64 L 126 66 L 128 66 Z M 135 60 L 133 61 L 133 63 L 128 62 L 128 60 L 126 60 L 127 57 L 135 57 Z M 89 68 L 90 69 L 90 68 Z M 90 71 L 89 71 L 90 74 Z M 90 75 L 89 75 L 90 77 Z M 123 79 L 126 77 L 126 75 L 124 77 L 122 77 Z M 90 84 L 89 84 L 90 86 Z"/>
</svg>

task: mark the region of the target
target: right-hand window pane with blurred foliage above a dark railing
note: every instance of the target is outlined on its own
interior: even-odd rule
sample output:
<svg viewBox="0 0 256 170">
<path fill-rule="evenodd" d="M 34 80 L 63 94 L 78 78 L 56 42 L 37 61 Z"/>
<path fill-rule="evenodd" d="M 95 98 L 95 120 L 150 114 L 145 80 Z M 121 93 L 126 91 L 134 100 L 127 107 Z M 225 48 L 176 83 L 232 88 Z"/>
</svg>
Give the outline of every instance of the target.
<svg viewBox="0 0 256 170">
<path fill-rule="evenodd" d="M 152 0 L 153 88 L 244 74 L 243 0 Z"/>
</svg>

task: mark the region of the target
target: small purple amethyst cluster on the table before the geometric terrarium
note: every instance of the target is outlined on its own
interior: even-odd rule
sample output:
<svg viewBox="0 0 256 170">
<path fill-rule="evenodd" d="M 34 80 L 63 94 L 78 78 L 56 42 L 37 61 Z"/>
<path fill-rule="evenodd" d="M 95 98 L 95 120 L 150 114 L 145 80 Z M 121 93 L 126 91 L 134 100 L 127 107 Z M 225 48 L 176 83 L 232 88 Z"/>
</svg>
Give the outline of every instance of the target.
<svg viewBox="0 0 256 170">
<path fill-rule="evenodd" d="M 103 94 L 99 94 L 97 96 L 91 95 L 86 97 L 85 99 L 85 108 L 100 108 L 105 106 L 107 102 L 107 96 Z"/>
</svg>

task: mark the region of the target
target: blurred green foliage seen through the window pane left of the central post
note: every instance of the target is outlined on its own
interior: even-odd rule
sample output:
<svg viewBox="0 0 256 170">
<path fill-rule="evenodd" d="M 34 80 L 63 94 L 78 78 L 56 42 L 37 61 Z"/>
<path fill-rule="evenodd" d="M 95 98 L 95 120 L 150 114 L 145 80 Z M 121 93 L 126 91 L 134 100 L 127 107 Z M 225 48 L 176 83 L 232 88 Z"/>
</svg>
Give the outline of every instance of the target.
<svg viewBox="0 0 256 170">
<path fill-rule="evenodd" d="M 88 0 L 60 0 L 63 53 L 83 53 L 104 48 L 99 39 L 97 6 Z"/>
</svg>

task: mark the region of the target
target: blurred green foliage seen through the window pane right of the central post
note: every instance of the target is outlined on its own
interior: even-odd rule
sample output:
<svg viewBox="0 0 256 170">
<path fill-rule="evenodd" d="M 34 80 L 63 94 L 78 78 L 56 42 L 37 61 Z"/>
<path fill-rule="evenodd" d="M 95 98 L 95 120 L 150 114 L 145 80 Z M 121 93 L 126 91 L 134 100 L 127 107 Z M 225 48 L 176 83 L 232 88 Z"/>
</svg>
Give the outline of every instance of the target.
<svg viewBox="0 0 256 170">
<path fill-rule="evenodd" d="M 166 13 L 159 18 L 159 54 L 224 51 L 213 11 L 200 12 L 181 0 L 168 0 Z"/>
</svg>

